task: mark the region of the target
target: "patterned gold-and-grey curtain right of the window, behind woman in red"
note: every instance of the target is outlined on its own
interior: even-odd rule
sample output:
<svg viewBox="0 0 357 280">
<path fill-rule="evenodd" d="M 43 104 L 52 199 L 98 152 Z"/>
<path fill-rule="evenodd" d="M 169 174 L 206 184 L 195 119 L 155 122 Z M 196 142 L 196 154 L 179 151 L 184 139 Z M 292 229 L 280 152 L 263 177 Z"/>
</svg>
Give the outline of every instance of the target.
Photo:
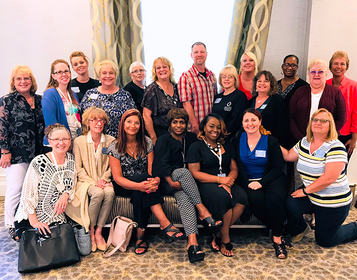
<svg viewBox="0 0 357 280">
<path fill-rule="evenodd" d="M 258 69 L 264 62 L 273 0 L 235 0 L 225 65 L 239 69 L 245 51 L 257 55 Z"/>
</svg>

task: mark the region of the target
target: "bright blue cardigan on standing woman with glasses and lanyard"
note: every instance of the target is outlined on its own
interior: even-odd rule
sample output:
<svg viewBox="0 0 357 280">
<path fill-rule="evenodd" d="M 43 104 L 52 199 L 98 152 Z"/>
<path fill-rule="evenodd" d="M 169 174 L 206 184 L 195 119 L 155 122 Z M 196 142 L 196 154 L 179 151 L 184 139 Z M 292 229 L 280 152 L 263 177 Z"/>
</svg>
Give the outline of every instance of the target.
<svg viewBox="0 0 357 280">
<path fill-rule="evenodd" d="M 79 104 L 80 102 L 77 94 L 73 93 L 73 95 Z M 68 131 L 70 131 L 67 122 L 66 112 L 63 106 L 63 101 L 56 89 L 51 88 L 45 90 L 45 92 L 43 93 L 41 104 L 46 127 L 51 124 L 59 123 L 64 125 L 68 129 Z M 43 137 L 43 145 L 48 145 L 46 136 Z"/>
</svg>

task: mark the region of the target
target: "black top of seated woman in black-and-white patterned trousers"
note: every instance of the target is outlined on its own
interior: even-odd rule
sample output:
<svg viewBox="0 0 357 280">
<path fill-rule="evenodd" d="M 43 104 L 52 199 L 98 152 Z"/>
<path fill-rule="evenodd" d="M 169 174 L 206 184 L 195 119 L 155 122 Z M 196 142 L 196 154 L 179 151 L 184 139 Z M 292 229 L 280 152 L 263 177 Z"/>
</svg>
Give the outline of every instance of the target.
<svg viewBox="0 0 357 280">
<path fill-rule="evenodd" d="M 195 133 L 187 132 L 184 139 L 181 143 L 169 133 L 158 138 L 155 146 L 154 162 L 152 162 L 152 176 L 166 177 L 171 175 L 174 170 L 184 167 L 182 156 L 184 146 L 186 163 L 188 150 L 191 144 L 197 141 L 197 136 Z"/>
</svg>

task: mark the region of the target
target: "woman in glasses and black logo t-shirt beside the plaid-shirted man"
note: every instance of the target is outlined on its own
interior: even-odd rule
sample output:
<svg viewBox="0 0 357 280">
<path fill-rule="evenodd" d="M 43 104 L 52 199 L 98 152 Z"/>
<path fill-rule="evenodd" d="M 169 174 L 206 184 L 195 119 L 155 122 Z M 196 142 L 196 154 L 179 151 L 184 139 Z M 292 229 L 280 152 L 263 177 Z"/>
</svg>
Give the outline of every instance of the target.
<svg viewBox="0 0 357 280">
<path fill-rule="evenodd" d="M 218 82 L 223 91 L 214 97 L 212 113 L 217 113 L 223 118 L 229 133 L 227 139 L 231 139 L 242 127 L 242 114 L 247 107 L 248 99 L 244 92 L 238 90 L 239 77 L 233 65 L 223 67 Z"/>
</svg>

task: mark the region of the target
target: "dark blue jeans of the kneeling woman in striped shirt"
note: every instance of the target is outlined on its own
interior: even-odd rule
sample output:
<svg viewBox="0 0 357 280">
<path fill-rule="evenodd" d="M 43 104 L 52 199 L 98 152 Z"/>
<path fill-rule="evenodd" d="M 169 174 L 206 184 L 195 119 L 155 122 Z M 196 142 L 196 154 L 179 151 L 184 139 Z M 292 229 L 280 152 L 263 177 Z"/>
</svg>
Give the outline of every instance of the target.
<svg viewBox="0 0 357 280">
<path fill-rule="evenodd" d="M 328 208 L 313 204 L 308 197 L 287 199 L 287 217 L 292 236 L 302 233 L 307 223 L 303 214 L 315 213 L 315 239 L 320 246 L 330 247 L 357 238 L 357 223 L 342 223 L 348 216 L 350 205 Z"/>
</svg>

